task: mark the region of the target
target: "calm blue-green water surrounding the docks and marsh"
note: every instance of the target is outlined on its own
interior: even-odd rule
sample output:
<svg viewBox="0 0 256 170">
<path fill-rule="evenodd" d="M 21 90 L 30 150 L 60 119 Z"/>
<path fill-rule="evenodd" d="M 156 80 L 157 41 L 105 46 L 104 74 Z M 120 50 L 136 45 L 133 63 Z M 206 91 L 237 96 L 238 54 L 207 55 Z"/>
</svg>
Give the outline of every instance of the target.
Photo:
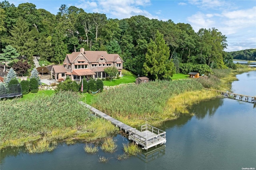
<svg viewBox="0 0 256 170">
<path fill-rule="evenodd" d="M 256 95 L 256 71 L 237 76 L 233 91 Z M 246 83 L 245 83 L 246 82 Z M 252 94 L 253 93 L 253 94 Z M 256 168 L 256 108 L 252 103 L 232 99 L 213 99 L 191 108 L 194 116 L 182 116 L 162 125 L 165 146 L 144 151 L 125 160 L 121 134 L 113 138 L 118 144 L 114 154 L 99 150 L 87 154 L 85 144 L 59 144 L 53 152 L 27 154 L 11 148 L 1 151 L 1 170 L 241 170 Z M 108 163 L 98 162 L 100 156 Z"/>
</svg>

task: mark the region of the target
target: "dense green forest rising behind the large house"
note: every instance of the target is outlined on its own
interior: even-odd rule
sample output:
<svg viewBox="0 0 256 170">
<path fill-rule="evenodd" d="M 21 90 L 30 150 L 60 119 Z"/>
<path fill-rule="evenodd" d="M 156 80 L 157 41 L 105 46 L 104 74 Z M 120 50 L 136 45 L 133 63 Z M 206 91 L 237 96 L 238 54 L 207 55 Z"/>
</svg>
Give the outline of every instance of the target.
<svg viewBox="0 0 256 170">
<path fill-rule="evenodd" d="M 195 32 L 190 24 L 145 16 L 111 19 L 105 14 L 87 13 L 64 4 L 54 15 L 36 9 L 32 3 L 16 7 L 2 1 L 0 38 L 1 53 L 11 45 L 28 61 L 36 55 L 40 60 L 61 64 L 67 53 L 84 47 L 85 50 L 118 53 L 124 60 L 124 68 L 135 74 L 148 75 L 147 71 L 152 71 L 150 68 L 154 66 L 158 67 L 158 73 L 163 72 L 161 69 L 171 69 L 155 76 L 162 79 L 180 70 L 196 71 L 191 68 L 197 67 L 209 70 L 233 64 L 232 55 L 224 51 L 228 45 L 226 36 L 216 28 L 201 28 Z"/>
</svg>

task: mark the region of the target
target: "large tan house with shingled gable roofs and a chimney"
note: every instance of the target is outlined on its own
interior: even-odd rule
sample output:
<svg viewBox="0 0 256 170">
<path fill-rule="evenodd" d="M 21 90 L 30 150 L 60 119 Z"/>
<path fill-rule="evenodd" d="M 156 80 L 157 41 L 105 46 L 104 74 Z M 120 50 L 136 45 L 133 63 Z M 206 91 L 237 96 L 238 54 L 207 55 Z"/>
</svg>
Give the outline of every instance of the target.
<svg viewBox="0 0 256 170">
<path fill-rule="evenodd" d="M 52 79 L 66 79 L 69 75 L 72 80 L 81 81 L 83 77 L 105 78 L 108 75 L 104 72 L 106 67 L 116 67 L 118 75 L 122 75 L 124 61 L 118 54 L 108 54 L 107 51 L 84 51 L 67 54 L 63 65 L 54 65 L 51 69 Z"/>
</svg>

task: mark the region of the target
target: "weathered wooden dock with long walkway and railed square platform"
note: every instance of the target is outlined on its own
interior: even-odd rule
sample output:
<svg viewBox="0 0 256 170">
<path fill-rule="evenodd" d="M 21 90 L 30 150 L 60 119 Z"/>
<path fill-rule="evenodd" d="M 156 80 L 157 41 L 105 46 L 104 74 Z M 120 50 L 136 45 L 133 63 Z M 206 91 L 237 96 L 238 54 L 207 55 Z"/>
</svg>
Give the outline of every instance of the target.
<svg viewBox="0 0 256 170">
<path fill-rule="evenodd" d="M 120 130 L 124 130 L 129 134 L 128 139 L 136 142 L 136 144 L 140 144 L 142 149 L 148 150 L 153 146 L 157 146 L 158 144 L 164 144 L 166 142 L 166 132 L 160 130 L 158 128 L 152 127 L 150 125 L 142 125 L 141 130 L 137 130 L 136 128 L 130 127 L 108 115 L 95 109 L 94 107 L 83 103 L 80 104 L 89 108 L 94 114 L 110 121 L 112 124 L 116 125 L 116 127 L 120 127 Z"/>
</svg>

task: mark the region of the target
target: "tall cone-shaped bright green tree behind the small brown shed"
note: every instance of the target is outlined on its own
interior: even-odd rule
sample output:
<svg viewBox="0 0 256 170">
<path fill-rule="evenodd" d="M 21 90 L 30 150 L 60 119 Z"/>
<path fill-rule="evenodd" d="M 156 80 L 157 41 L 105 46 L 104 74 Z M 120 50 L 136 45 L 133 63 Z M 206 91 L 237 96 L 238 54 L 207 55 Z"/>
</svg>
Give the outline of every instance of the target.
<svg viewBox="0 0 256 170">
<path fill-rule="evenodd" d="M 175 73 L 174 63 L 169 60 L 169 47 L 164 42 L 164 36 L 157 31 L 156 39 L 150 40 L 146 53 L 146 62 L 143 64 L 143 73 L 151 80 L 171 80 Z"/>
</svg>

